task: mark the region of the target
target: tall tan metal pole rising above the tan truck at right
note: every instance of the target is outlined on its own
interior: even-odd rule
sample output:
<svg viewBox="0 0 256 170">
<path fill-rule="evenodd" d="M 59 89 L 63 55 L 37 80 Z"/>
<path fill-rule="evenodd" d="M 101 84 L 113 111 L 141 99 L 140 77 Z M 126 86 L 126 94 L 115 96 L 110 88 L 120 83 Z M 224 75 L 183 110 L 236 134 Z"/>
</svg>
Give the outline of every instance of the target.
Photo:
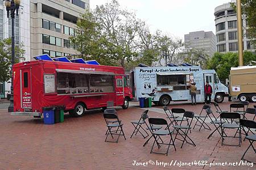
<svg viewBox="0 0 256 170">
<path fill-rule="evenodd" d="M 243 66 L 242 12 L 241 0 L 237 0 L 238 64 Z"/>
</svg>

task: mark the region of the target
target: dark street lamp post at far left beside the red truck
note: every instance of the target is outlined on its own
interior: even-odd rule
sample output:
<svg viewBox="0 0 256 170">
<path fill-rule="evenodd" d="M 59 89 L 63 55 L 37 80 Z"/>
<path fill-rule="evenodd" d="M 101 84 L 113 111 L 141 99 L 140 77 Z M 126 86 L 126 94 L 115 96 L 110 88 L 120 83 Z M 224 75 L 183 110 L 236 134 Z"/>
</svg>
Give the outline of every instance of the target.
<svg viewBox="0 0 256 170">
<path fill-rule="evenodd" d="M 13 65 L 15 59 L 15 45 L 14 45 L 14 19 L 15 19 L 15 11 L 16 16 L 18 16 L 20 0 L 6 0 L 5 6 L 7 11 L 7 18 L 9 18 L 9 14 L 11 15 L 11 98 L 10 105 L 8 107 L 8 112 L 13 112 Z"/>
</svg>

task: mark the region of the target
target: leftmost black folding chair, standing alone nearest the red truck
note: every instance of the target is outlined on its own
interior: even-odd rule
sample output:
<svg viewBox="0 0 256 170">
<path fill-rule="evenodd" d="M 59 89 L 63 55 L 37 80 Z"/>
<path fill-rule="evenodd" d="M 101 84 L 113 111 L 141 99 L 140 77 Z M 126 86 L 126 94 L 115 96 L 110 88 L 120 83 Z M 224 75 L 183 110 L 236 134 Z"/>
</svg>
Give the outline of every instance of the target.
<svg viewBox="0 0 256 170">
<path fill-rule="evenodd" d="M 120 137 L 120 135 L 123 135 L 123 137 L 125 138 L 125 133 L 123 133 L 123 124 L 121 123 L 121 121 L 119 120 L 117 114 L 114 113 L 104 113 L 103 114 L 105 122 L 106 122 L 106 126 L 108 128 L 107 132 L 106 132 L 106 139 L 105 142 L 116 142 L 118 143 L 118 139 Z M 110 124 L 109 121 L 113 121 L 115 120 L 115 123 Z M 117 128 L 117 129 L 116 129 Z M 118 130 L 120 128 L 120 130 Z M 115 130 L 112 130 L 115 129 Z M 119 131 L 119 134 L 118 134 Z M 118 135 L 118 138 L 116 141 L 107 141 L 107 138 L 109 136 L 109 134 L 111 135 L 111 137 L 114 139 L 113 135 Z M 125 138 L 126 140 L 126 138 Z"/>
</svg>

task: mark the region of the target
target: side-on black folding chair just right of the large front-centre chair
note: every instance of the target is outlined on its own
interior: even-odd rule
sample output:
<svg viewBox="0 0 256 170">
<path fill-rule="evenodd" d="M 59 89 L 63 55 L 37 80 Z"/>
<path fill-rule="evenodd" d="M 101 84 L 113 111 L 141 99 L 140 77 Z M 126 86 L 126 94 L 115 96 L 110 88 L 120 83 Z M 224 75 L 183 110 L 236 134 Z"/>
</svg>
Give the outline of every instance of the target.
<svg viewBox="0 0 256 170">
<path fill-rule="evenodd" d="M 191 123 L 192 123 L 192 121 L 193 121 L 194 115 L 195 115 L 194 112 L 186 111 L 186 112 L 183 114 L 183 118 L 184 118 L 183 121 L 184 121 L 184 122 L 187 122 L 187 125 L 183 125 L 183 124 L 182 124 L 183 121 L 181 121 L 181 122 L 180 122 L 180 125 L 175 125 L 175 126 L 173 126 L 174 129 L 177 131 L 177 133 L 176 133 L 176 135 L 175 135 L 175 138 L 174 138 L 174 141 L 175 141 L 176 139 L 179 140 L 179 141 L 182 141 L 181 148 L 183 147 L 184 142 L 187 142 L 187 143 L 189 143 L 189 144 L 191 144 L 191 145 L 193 145 L 193 146 L 196 146 L 195 143 L 192 141 L 192 139 L 189 138 L 189 136 L 188 136 L 188 131 L 189 131 L 189 129 L 191 129 Z M 189 119 L 191 119 L 190 122 L 188 121 Z M 179 134 L 183 139 L 177 138 L 177 134 Z M 188 142 L 186 138 L 188 138 L 192 143 L 191 143 L 191 142 Z"/>
</svg>

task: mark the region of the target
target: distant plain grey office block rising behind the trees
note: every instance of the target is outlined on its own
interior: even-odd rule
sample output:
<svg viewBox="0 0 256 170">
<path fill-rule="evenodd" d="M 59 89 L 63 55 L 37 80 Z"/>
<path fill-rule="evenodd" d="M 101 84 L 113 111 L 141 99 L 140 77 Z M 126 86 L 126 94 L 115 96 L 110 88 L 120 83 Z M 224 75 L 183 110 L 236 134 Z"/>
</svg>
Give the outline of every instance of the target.
<svg viewBox="0 0 256 170">
<path fill-rule="evenodd" d="M 210 57 L 216 52 L 216 36 L 212 31 L 189 32 L 189 34 L 184 36 L 184 40 L 186 49 L 203 50 Z"/>
</svg>

